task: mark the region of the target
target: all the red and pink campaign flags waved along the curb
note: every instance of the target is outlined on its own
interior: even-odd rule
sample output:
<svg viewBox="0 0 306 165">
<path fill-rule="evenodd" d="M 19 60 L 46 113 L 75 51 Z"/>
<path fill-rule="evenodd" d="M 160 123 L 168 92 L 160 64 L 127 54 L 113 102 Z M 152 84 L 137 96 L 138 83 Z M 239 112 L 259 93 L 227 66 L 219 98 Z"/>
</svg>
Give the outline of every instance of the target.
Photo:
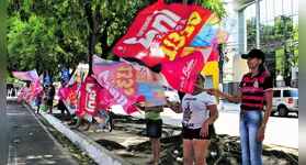
<svg viewBox="0 0 306 165">
<path fill-rule="evenodd" d="M 65 87 L 64 102 L 70 113 L 103 125 L 107 118 L 104 110 L 111 106 L 121 105 L 131 114 L 138 112 L 136 101 L 166 105 L 163 86 L 192 94 L 207 61 L 217 61 L 212 59 L 217 54 L 216 45 L 227 41 L 235 23 L 195 4 L 158 0 L 137 14 L 114 46 L 113 54 L 121 57 L 120 62 L 93 55 L 93 74 L 80 86 L 72 76 Z M 13 75 L 34 81 L 31 87 L 35 90 L 39 86 L 35 72 Z M 69 78 L 68 69 L 64 77 Z"/>
</svg>

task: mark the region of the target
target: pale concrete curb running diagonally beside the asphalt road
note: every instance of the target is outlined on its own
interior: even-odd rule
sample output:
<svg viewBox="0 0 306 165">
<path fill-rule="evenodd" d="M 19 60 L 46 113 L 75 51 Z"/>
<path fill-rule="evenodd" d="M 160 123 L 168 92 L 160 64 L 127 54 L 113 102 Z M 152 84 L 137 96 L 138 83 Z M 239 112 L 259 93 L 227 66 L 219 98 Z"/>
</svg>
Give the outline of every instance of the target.
<svg viewBox="0 0 306 165">
<path fill-rule="evenodd" d="M 32 109 L 33 106 L 31 105 Z M 29 108 L 29 107 L 27 107 Z M 86 152 L 99 165 L 131 165 L 123 158 L 111 153 L 93 140 L 84 136 L 82 133 L 72 131 L 68 125 L 64 125 L 57 118 L 45 112 L 41 114 L 60 133 L 68 138 L 72 143 Z"/>
</svg>

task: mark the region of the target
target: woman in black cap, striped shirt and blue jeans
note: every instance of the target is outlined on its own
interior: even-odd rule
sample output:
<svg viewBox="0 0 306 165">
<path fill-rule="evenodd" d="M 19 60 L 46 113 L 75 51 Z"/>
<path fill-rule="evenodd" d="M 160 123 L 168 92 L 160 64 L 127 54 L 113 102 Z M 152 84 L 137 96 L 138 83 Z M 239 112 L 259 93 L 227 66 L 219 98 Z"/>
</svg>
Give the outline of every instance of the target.
<svg viewBox="0 0 306 165">
<path fill-rule="evenodd" d="M 249 73 L 245 74 L 236 95 L 227 95 L 218 89 L 206 89 L 230 102 L 240 106 L 240 144 L 242 164 L 262 165 L 262 143 L 273 105 L 273 79 L 267 69 L 265 55 L 253 48 L 241 58 L 247 59 Z"/>
</svg>

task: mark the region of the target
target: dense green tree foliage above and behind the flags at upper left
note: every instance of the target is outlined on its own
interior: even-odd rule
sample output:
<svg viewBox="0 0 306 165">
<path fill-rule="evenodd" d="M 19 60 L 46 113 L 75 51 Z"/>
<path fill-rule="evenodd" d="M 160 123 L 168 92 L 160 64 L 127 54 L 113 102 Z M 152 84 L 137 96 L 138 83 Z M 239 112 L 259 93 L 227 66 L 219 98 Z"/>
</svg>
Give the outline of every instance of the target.
<svg viewBox="0 0 306 165">
<path fill-rule="evenodd" d="M 149 3 L 148 3 L 149 2 Z M 58 78 L 63 68 L 112 58 L 114 44 L 154 0 L 7 0 L 8 72 L 36 68 Z M 173 2 L 173 1 L 172 1 Z M 220 0 L 197 1 L 226 15 Z M 90 46 L 93 45 L 91 52 Z"/>
</svg>

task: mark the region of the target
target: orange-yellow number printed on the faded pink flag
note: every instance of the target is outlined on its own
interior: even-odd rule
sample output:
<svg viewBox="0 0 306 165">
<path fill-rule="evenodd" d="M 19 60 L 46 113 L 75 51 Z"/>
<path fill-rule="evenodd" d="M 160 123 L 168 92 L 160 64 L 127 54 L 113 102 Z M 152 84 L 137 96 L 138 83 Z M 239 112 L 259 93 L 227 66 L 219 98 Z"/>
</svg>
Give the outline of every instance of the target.
<svg viewBox="0 0 306 165">
<path fill-rule="evenodd" d="M 120 88 L 125 88 L 124 94 L 129 96 L 134 94 L 134 80 L 131 79 L 133 77 L 133 68 L 132 67 L 120 67 L 117 69 L 116 78 L 117 78 L 117 86 Z"/>
</svg>

